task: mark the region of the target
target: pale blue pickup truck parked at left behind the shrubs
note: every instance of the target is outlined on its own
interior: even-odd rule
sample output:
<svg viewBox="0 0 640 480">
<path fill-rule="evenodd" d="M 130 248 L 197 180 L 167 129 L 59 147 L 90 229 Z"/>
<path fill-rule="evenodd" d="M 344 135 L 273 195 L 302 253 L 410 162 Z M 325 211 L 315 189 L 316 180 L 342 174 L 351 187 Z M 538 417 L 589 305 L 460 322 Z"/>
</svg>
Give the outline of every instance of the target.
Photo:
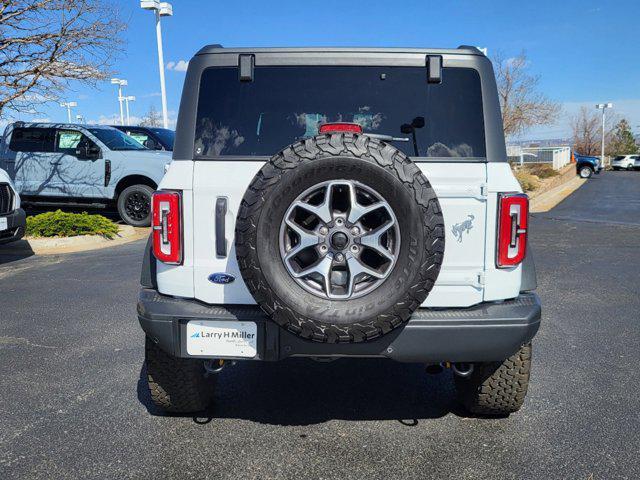
<svg viewBox="0 0 640 480">
<path fill-rule="evenodd" d="M 149 150 L 115 128 L 18 122 L 4 134 L 0 167 L 24 203 L 115 202 L 129 225 L 148 226 L 151 193 L 171 153 Z"/>
</svg>

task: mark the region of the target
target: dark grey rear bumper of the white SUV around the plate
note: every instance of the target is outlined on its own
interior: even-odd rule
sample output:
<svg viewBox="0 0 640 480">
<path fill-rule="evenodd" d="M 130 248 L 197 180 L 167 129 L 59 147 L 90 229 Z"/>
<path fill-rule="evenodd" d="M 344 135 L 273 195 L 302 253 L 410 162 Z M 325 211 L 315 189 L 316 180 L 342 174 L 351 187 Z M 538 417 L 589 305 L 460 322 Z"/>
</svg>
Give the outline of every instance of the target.
<svg viewBox="0 0 640 480">
<path fill-rule="evenodd" d="M 529 342 L 540 326 L 540 300 L 525 293 L 501 303 L 460 309 L 419 309 L 409 322 L 382 338 L 353 344 L 304 340 L 276 325 L 257 306 L 209 306 L 142 289 L 138 319 L 145 333 L 170 355 L 190 357 L 189 320 L 238 320 L 257 324 L 252 360 L 307 357 L 386 357 L 401 362 L 486 362 L 503 360 Z M 206 357 L 202 357 L 206 358 Z M 246 359 L 245 359 L 246 360 Z"/>
</svg>

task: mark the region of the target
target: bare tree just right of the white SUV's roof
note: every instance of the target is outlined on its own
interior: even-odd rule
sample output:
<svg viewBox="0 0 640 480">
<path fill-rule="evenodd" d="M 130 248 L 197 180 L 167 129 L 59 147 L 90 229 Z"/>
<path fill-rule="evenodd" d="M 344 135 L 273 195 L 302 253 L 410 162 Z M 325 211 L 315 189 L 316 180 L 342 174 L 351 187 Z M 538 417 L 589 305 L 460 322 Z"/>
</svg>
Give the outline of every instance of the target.
<svg viewBox="0 0 640 480">
<path fill-rule="evenodd" d="M 528 73 L 529 62 L 524 52 L 514 58 L 504 58 L 498 53 L 493 66 L 505 136 L 522 133 L 535 125 L 548 125 L 558 118 L 560 105 L 537 91 L 540 78 Z"/>
</svg>

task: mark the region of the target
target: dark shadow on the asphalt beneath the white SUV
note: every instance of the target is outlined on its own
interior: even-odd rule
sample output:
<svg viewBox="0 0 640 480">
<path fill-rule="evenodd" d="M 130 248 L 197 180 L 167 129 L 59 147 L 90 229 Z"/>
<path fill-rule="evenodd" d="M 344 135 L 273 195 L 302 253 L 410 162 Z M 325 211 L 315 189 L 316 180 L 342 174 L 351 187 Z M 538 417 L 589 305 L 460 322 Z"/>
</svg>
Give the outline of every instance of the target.
<svg viewBox="0 0 640 480">
<path fill-rule="evenodd" d="M 138 400 L 152 415 L 172 416 L 155 407 L 146 369 L 140 371 Z M 423 365 L 384 359 L 317 363 L 289 359 L 276 363 L 239 362 L 219 374 L 214 404 L 194 417 L 270 425 L 311 425 L 329 420 L 397 420 L 416 426 L 448 413 L 466 416 L 455 398 L 449 372 L 428 375 Z"/>
</svg>

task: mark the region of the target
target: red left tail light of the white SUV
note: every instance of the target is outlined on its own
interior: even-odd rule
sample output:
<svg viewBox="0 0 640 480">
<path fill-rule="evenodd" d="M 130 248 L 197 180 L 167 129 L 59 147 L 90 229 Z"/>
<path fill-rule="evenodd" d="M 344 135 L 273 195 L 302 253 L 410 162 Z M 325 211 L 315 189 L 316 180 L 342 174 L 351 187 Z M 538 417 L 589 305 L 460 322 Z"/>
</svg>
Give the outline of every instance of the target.
<svg viewBox="0 0 640 480">
<path fill-rule="evenodd" d="M 162 263 L 182 263 L 182 201 L 179 192 L 153 194 L 153 254 Z"/>
</svg>

